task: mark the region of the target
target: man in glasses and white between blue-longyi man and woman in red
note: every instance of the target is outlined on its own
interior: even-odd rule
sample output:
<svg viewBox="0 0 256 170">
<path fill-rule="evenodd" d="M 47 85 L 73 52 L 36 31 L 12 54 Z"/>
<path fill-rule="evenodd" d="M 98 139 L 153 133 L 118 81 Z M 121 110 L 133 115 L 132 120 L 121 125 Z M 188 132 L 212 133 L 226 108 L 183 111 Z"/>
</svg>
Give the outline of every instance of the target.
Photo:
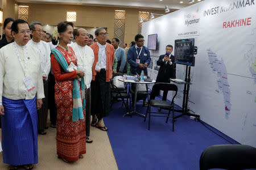
<svg viewBox="0 0 256 170">
<path fill-rule="evenodd" d="M 38 50 L 41 60 L 42 78 L 44 83 L 44 96 L 42 108 L 38 111 L 38 133 L 45 135 L 47 127 L 48 116 L 48 74 L 51 69 L 51 49 L 49 44 L 42 41 L 44 36 L 43 25 L 39 22 L 33 22 L 30 24 L 31 35 L 33 36 L 28 45 L 33 46 Z"/>
</svg>

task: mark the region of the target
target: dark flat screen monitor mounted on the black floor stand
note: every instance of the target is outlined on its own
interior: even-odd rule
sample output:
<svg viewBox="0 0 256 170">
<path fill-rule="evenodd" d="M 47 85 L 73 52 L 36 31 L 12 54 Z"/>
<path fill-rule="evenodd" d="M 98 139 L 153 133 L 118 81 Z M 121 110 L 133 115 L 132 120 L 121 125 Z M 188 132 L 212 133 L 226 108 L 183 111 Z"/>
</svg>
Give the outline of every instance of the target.
<svg viewBox="0 0 256 170">
<path fill-rule="evenodd" d="M 195 66 L 194 46 L 195 39 L 175 40 L 175 62 Z"/>
</svg>

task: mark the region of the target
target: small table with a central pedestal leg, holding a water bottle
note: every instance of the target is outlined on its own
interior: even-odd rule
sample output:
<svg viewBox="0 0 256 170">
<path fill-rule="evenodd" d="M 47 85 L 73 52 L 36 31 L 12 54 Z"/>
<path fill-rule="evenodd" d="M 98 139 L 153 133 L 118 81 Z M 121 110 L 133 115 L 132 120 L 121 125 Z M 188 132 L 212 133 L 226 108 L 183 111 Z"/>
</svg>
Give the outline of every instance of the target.
<svg viewBox="0 0 256 170">
<path fill-rule="evenodd" d="M 124 83 L 133 83 L 135 84 L 135 92 L 134 92 L 134 104 L 133 104 L 133 111 L 127 112 L 125 114 L 123 114 L 123 116 L 131 116 L 133 113 L 138 114 L 141 117 L 145 117 L 145 114 L 139 113 L 136 111 L 136 104 L 137 104 L 137 93 L 138 93 L 138 86 L 137 84 L 146 84 L 146 90 L 147 90 L 147 94 L 148 94 L 148 84 L 152 84 L 155 83 L 155 80 L 152 80 L 152 82 L 140 82 L 140 81 L 136 81 L 136 80 L 127 80 L 127 79 L 123 79 L 123 78 L 118 78 L 119 81 L 122 81 Z"/>
</svg>

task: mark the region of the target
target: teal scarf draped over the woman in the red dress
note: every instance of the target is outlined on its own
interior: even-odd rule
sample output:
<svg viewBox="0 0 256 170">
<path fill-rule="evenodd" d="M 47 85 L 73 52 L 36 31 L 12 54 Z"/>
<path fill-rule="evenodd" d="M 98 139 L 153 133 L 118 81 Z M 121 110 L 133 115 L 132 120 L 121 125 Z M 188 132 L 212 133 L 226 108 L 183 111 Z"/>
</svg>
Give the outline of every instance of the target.
<svg viewBox="0 0 256 170">
<path fill-rule="evenodd" d="M 56 48 L 52 49 L 52 53 L 55 56 L 57 62 L 59 65 L 63 68 L 63 70 L 66 73 L 68 72 L 68 63 L 63 57 L 63 55 L 57 50 Z M 79 67 L 77 67 L 79 69 Z M 80 82 L 81 90 L 85 89 L 85 83 L 84 83 L 84 78 L 81 78 Z M 85 97 L 82 97 L 81 100 L 81 95 L 80 95 L 80 90 L 79 90 L 79 84 L 78 80 L 75 78 L 73 79 L 73 112 L 72 112 L 72 121 L 76 122 L 79 119 L 84 118 L 84 113 L 82 112 L 82 109 L 85 110 Z"/>
</svg>

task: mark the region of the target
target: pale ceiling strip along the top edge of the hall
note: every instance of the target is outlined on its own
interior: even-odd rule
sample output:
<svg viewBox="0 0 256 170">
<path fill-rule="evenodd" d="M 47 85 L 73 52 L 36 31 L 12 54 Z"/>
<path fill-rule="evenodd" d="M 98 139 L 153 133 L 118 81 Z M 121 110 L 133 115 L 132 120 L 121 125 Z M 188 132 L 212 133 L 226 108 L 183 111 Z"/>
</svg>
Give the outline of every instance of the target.
<svg viewBox="0 0 256 170">
<path fill-rule="evenodd" d="M 164 9 L 168 6 L 170 9 L 179 10 L 180 8 L 187 7 L 198 3 L 197 0 L 193 3 L 188 3 L 188 0 L 15 0 L 19 3 L 61 3 L 72 5 L 98 5 L 98 6 L 118 6 L 118 7 L 131 7 L 131 8 L 155 8 Z M 183 3 L 180 3 L 183 1 Z M 203 1 L 203 0 L 201 0 Z"/>
</svg>

